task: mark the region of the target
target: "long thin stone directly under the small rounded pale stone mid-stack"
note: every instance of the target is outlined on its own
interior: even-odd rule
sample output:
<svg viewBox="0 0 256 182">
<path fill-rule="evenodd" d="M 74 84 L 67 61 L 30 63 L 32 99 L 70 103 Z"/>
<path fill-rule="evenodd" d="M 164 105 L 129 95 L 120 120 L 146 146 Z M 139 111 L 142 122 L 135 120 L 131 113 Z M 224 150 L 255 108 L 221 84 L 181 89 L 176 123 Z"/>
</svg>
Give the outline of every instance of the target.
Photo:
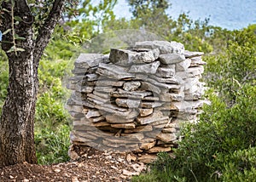
<svg viewBox="0 0 256 182">
<path fill-rule="evenodd" d="M 146 91 L 125 91 L 123 89 L 118 89 L 117 91 L 111 93 L 111 96 L 119 98 L 119 97 L 128 97 L 132 99 L 142 99 L 148 95 L 151 95 L 151 92 Z"/>
</svg>

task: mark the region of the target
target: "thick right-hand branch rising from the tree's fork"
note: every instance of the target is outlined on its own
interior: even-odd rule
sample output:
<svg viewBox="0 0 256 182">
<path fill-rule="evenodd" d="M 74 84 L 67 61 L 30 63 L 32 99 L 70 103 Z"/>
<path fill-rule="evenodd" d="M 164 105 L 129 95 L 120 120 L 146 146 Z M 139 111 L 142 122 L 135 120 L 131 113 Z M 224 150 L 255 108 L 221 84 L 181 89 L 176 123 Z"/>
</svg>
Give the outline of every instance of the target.
<svg viewBox="0 0 256 182">
<path fill-rule="evenodd" d="M 38 65 L 38 62 L 44 52 L 44 48 L 49 43 L 49 39 L 55 29 L 56 24 L 58 23 L 61 12 L 64 7 L 64 3 L 66 0 L 55 0 L 52 9 L 49 12 L 45 23 L 41 28 L 38 30 L 39 35 L 35 42 L 34 48 L 34 63 Z"/>
</svg>

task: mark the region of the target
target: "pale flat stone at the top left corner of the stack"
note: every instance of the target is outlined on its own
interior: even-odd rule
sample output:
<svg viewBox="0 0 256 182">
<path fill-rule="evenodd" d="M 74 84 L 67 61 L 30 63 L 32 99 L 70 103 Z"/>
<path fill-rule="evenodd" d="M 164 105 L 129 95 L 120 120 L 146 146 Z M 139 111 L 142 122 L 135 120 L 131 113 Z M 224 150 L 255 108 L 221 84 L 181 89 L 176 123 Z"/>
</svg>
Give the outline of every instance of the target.
<svg viewBox="0 0 256 182">
<path fill-rule="evenodd" d="M 108 62 L 104 54 L 80 54 L 74 65 L 79 68 L 90 68 L 102 62 Z"/>
</svg>

